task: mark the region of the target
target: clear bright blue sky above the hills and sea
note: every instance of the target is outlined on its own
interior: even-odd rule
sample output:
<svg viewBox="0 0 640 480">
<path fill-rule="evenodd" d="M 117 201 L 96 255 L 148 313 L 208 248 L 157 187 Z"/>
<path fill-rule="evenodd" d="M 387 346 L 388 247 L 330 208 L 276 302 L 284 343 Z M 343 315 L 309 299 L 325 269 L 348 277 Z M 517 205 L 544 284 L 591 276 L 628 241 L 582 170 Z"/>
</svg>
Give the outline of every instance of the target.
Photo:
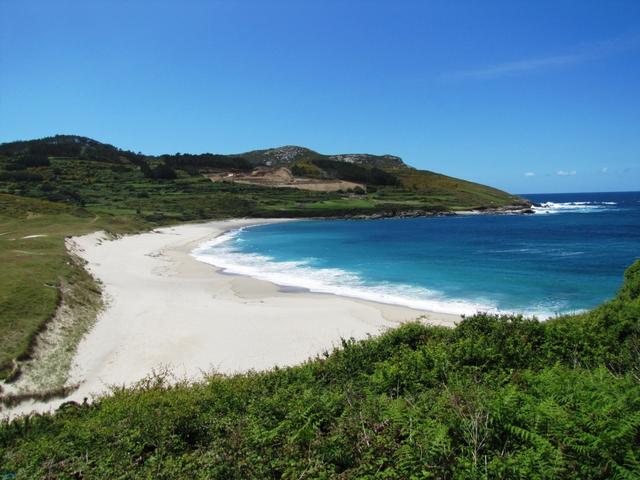
<svg viewBox="0 0 640 480">
<path fill-rule="evenodd" d="M 57 133 L 640 190 L 640 1 L 0 0 L 0 142 Z"/>
</svg>

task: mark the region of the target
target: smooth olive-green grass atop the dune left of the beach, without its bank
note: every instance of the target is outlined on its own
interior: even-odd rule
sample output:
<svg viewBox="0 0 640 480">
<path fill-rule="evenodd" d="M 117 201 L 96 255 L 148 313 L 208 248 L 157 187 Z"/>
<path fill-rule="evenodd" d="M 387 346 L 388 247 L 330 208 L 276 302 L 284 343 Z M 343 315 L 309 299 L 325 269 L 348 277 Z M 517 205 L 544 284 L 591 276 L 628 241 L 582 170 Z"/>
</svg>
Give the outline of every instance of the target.
<svg viewBox="0 0 640 480">
<path fill-rule="evenodd" d="M 61 282 L 80 281 L 82 272 L 69 262 L 65 236 L 144 226 L 131 217 L 96 216 L 64 203 L 0 194 L 0 378 L 11 373 L 13 359 L 27 354 L 34 335 L 53 315 Z M 23 238 L 30 235 L 45 236 Z"/>
</svg>

